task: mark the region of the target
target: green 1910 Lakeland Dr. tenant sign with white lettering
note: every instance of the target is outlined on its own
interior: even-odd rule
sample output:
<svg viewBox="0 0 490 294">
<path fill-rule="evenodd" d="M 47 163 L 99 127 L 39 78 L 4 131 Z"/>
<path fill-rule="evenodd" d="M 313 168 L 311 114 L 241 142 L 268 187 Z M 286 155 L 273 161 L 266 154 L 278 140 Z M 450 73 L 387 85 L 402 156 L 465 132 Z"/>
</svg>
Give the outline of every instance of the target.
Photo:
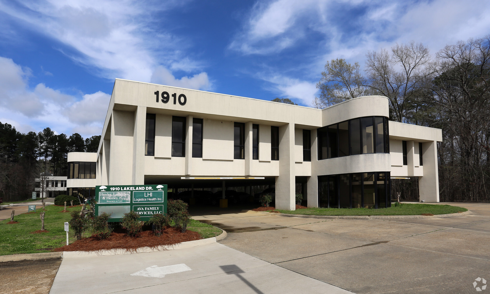
<svg viewBox="0 0 490 294">
<path fill-rule="evenodd" d="M 111 214 L 109 221 L 121 221 L 134 211 L 142 221 L 167 213 L 167 185 L 96 186 L 96 215 Z"/>
</svg>

